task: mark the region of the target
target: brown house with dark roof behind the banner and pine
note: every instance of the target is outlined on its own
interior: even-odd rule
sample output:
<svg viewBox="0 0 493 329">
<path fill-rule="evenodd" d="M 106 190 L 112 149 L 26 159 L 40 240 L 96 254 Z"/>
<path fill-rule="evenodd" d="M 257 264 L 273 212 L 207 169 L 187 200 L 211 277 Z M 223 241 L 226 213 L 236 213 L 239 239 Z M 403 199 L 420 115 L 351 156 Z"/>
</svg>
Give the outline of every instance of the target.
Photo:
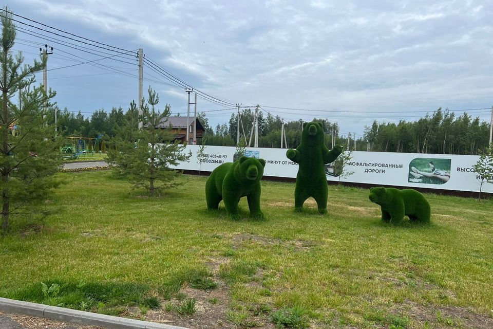
<svg viewBox="0 0 493 329">
<path fill-rule="evenodd" d="M 166 129 L 171 125 L 175 140 L 180 140 L 182 144 L 200 144 L 204 132 L 202 123 L 197 117 L 188 117 L 188 123 L 190 126 L 188 138 L 186 138 L 186 117 L 163 117 L 156 128 Z"/>
</svg>

